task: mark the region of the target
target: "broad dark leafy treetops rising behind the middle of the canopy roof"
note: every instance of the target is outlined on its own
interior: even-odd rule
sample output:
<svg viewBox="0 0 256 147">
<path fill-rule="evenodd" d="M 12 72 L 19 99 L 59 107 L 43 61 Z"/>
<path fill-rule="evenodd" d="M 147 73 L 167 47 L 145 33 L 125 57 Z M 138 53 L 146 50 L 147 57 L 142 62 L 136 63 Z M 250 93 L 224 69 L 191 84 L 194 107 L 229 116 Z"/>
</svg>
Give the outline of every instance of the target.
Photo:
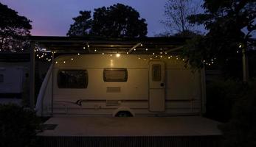
<svg viewBox="0 0 256 147">
<path fill-rule="evenodd" d="M 93 18 L 89 11 L 80 11 L 80 15 L 73 19 L 75 24 L 71 25 L 69 36 L 145 37 L 148 33 L 145 19 L 124 4 L 97 8 Z"/>
</svg>

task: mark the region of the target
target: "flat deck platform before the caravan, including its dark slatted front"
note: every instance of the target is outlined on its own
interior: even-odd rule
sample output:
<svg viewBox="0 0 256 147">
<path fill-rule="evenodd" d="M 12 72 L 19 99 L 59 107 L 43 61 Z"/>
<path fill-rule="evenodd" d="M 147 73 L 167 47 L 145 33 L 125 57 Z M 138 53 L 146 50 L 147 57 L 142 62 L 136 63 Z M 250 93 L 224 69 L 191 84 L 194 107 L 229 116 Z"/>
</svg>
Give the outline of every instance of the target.
<svg viewBox="0 0 256 147">
<path fill-rule="evenodd" d="M 166 118 L 50 118 L 41 146 L 218 146 L 218 122 L 197 116 Z"/>
</svg>

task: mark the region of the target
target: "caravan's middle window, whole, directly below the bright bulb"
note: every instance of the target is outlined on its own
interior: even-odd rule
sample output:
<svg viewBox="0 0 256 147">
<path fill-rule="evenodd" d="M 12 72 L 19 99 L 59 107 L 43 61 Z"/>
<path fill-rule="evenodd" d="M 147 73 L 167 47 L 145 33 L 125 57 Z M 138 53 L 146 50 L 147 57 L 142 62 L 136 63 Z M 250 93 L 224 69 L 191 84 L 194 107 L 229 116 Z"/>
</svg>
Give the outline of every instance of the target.
<svg viewBox="0 0 256 147">
<path fill-rule="evenodd" d="M 127 82 L 126 68 L 105 68 L 103 71 L 104 82 Z"/>
</svg>

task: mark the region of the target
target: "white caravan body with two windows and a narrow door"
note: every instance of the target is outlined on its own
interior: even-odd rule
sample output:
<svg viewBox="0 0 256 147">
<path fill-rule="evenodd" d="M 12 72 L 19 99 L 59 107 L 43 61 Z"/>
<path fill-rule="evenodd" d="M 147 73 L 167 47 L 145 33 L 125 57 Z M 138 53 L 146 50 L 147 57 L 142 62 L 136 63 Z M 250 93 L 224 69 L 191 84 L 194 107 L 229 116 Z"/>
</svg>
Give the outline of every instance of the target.
<svg viewBox="0 0 256 147">
<path fill-rule="evenodd" d="M 204 99 L 204 72 L 184 68 L 176 56 L 63 55 L 46 74 L 36 110 L 41 116 L 200 115 Z"/>
</svg>

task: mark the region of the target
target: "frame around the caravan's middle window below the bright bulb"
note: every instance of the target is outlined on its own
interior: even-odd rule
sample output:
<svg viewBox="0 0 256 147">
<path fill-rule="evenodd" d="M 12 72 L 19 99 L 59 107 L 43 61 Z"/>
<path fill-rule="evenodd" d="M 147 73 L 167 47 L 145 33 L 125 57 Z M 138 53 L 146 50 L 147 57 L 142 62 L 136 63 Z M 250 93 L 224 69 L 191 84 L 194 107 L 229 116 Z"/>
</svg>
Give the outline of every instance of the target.
<svg viewBox="0 0 256 147">
<path fill-rule="evenodd" d="M 125 72 L 125 79 L 107 79 L 105 77 L 106 71 L 124 71 Z M 103 70 L 103 81 L 104 82 L 127 82 L 128 80 L 128 70 L 127 68 L 104 68 Z"/>
</svg>

